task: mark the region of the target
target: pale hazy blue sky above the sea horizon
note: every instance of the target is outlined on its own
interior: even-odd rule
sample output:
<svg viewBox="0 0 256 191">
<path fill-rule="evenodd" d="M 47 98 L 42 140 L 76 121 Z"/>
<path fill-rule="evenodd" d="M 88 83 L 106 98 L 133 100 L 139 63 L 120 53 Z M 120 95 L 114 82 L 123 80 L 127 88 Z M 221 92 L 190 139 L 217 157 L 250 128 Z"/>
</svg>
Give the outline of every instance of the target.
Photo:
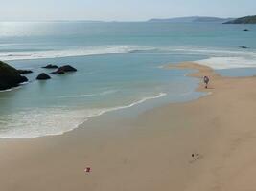
<svg viewBox="0 0 256 191">
<path fill-rule="evenodd" d="M 256 0 L 0 0 L 2 21 L 124 20 L 256 14 Z"/>
</svg>

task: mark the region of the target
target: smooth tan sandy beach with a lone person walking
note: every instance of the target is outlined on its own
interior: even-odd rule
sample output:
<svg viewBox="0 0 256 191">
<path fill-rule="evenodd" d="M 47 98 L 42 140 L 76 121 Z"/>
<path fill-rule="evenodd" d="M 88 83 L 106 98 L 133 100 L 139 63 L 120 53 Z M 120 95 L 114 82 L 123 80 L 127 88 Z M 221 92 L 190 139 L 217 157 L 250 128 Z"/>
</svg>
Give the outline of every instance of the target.
<svg viewBox="0 0 256 191">
<path fill-rule="evenodd" d="M 255 190 L 256 78 L 172 68 L 210 76 L 209 89 L 198 87 L 209 95 L 132 119 L 104 115 L 61 136 L 1 139 L 0 190 Z"/>
</svg>

